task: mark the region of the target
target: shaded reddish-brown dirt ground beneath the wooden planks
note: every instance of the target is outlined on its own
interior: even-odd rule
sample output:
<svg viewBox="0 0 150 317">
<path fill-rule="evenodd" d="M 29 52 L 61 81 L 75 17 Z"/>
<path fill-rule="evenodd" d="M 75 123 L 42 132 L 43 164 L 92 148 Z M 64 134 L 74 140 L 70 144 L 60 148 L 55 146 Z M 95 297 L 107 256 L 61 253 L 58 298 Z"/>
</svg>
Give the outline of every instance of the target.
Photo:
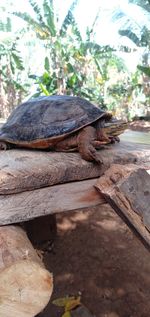
<svg viewBox="0 0 150 317">
<path fill-rule="evenodd" d="M 52 300 L 79 292 L 96 317 L 150 316 L 150 253 L 109 205 L 59 214 L 57 225 L 44 257 L 54 291 L 38 316 L 60 317 Z"/>
</svg>

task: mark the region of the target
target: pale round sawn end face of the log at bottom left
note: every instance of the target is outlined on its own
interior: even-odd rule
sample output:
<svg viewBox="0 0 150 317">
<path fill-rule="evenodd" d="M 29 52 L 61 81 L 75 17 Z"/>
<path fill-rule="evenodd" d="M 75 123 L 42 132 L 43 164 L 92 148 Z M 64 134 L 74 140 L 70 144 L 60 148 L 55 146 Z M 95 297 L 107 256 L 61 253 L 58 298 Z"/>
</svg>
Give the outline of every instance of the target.
<svg viewBox="0 0 150 317">
<path fill-rule="evenodd" d="M 52 275 L 38 263 L 14 263 L 0 273 L 0 316 L 35 316 L 49 302 L 52 288 Z"/>
</svg>

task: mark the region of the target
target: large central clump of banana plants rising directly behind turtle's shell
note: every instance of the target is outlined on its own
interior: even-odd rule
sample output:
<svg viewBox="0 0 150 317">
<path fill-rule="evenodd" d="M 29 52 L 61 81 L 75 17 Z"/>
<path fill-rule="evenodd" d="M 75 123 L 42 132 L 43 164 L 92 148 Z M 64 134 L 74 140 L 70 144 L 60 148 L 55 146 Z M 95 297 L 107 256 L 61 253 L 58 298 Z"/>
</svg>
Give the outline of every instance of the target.
<svg viewBox="0 0 150 317">
<path fill-rule="evenodd" d="M 54 12 L 53 1 L 43 1 L 42 9 L 33 1 L 30 4 L 36 13 L 33 19 L 26 13 L 14 13 L 21 17 L 43 40 L 47 55 L 45 71 L 41 76 L 30 75 L 37 84 L 37 92 L 41 94 L 73 94 L 86 97 L 103 105 L 103 86 L 109 75 L 107 66 L 113 56 L 114 49 L 100 46 L 92 40 L 96 15 L 91 29 L 86 30 L 83 41 L 73 10 L 77 1 L 73 1 L 68 13 L 60 25 Z M 117 58 L 116 58 L 117 60 Z"/>
</svg>

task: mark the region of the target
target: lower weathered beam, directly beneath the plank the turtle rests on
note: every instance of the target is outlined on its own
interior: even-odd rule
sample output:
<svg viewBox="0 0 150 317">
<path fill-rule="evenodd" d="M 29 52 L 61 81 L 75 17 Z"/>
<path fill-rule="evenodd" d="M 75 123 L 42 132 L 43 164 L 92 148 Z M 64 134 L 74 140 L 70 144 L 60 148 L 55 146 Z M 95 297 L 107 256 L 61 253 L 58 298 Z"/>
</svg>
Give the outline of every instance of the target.
<svg viewBox="0 0 150 317">
<path fill-rule="evenodd" d="M 96 179 L 0 195 L 0 225 L 105 203 L 94 188 Z"/>
</svg>

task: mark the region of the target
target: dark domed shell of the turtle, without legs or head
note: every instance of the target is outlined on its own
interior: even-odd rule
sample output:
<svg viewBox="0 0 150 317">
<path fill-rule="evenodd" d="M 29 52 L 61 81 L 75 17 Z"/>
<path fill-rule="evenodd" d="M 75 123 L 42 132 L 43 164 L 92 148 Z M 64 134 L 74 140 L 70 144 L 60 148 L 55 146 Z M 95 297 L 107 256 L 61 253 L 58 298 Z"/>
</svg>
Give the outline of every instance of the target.
<svg viewBox="0 0 150 317">
<path fill-rule="evenodd" d="M 32 144 L 36 140 L 62 139 L 104 116 L 105 111 L 80 97 L 39 97 L 12 112 L 0 130 L 0 140 Z"/>
</svg>

